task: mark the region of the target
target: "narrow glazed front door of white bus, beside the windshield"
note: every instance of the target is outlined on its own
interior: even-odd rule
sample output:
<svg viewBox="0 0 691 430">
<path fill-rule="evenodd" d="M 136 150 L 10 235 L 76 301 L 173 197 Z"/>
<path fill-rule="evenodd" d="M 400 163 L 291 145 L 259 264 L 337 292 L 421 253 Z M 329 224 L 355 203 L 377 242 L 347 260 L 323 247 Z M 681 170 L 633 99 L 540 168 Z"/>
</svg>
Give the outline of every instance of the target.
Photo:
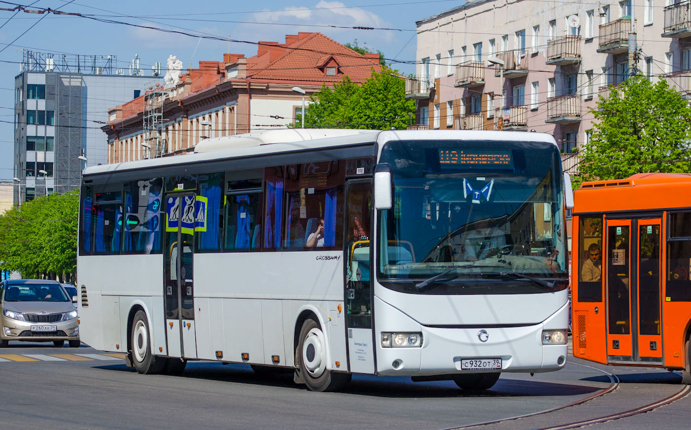
<svg viewBox="0 0 691 430">
<path fill-rule="evenodd" d="M 372 345 L 372 181 L 345 185 L 345 324 L 349 370 L 374 373 Z"/>
</svg>

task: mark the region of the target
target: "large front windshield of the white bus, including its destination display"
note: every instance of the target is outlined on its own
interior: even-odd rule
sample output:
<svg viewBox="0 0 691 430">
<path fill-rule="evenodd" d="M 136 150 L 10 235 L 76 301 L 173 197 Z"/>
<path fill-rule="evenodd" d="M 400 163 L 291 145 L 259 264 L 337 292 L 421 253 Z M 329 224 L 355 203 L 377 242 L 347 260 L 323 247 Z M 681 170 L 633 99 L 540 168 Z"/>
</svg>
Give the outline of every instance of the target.
<svg viewBox="0 0 691 430">
<path fill-rule="evenodd" d="M 566 288 L 558 149 L 546 142 L 388 142 L 392 209 L 379 212 L 377 276 L 420 294 Z M 421 281 L 443 274 L 434 285 Z M 542 282 L 542 284 L 545 284 Z M 417 285 L 417 287 L 416 287 Z"/>
</svg>

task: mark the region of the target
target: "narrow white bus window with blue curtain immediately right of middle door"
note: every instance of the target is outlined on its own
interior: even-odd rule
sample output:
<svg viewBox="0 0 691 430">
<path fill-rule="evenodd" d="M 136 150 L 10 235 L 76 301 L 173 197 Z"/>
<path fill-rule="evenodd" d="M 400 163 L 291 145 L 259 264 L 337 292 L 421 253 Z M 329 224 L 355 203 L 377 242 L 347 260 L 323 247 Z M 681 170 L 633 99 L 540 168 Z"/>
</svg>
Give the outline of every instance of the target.
<svg viewBox="0 0 691 430">
<path fill-rule="evenodd" d="M 206 205 L 206 213 L 197 215 L 197 218 L 202 216 L 204 219 L 195 223 L 195 245 L 198 252 L 218 251 L 223 239 L 223 174 L 198 175 L 197 180 L 199 191 L 196 200 L 198 205 Z"/>
</svg>

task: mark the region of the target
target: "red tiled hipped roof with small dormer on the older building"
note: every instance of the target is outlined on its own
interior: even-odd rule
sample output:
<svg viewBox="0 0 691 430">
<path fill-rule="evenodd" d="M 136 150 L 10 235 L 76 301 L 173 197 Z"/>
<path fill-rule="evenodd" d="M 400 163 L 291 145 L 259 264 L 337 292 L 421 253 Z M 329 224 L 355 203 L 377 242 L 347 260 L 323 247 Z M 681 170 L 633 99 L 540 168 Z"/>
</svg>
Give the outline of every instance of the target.
<svg viewBox="0 0 691 430">
<path fill-rule="evenodd" d="M 343 75 L 348 75 L 353 82 L 365 82 L 372 75 L 372 68 L 381 71 L 378 59 L 375 63 L 374 59 L 368 59 L 319 32 L 300 33 L 290 45 L 262 46 L 260 52 L 264 49 L 267 52 L 247 59 L 247 76 L 252 80 L 341 82 Z M 274 50 L 274 61 L 270 59 L 270 50 Z M 334 76 L 325 75 L 319 68 L 330 57 L 339 64 L 339 73 Z"/>
</svg>

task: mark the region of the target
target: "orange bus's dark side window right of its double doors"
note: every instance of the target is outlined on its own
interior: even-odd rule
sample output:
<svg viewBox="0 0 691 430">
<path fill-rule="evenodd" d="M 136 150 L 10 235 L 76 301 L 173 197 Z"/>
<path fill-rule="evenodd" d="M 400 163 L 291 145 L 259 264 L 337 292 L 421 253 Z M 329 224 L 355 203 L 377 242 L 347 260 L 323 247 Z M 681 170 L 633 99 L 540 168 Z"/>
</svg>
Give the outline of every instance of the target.
<svg viewBox="0 0 691 430">
<path fill-rule="evenodd" d="M 665 301 L 691 301 L 691 212 L 670 213 Z"/>
</svg>

